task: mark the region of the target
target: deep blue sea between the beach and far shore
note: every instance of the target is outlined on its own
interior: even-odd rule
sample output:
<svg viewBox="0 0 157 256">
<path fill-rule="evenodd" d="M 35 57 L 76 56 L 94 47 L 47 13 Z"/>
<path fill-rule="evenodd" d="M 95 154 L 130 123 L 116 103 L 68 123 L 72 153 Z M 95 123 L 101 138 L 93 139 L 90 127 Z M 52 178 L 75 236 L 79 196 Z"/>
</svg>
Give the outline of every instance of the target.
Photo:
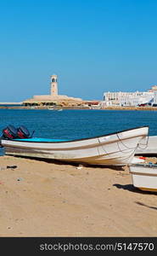
<svg viewBox="0 0 157 256">
<path fill-rule="evenodd" d="M 149 125 L 157 136 L 157 111 L 102 109 L 0 109 L 0 131 L 25 125 L 33 137 L 80 139 Z M 3 155 L 3 148 L 0 148 Z"/>
</svg>

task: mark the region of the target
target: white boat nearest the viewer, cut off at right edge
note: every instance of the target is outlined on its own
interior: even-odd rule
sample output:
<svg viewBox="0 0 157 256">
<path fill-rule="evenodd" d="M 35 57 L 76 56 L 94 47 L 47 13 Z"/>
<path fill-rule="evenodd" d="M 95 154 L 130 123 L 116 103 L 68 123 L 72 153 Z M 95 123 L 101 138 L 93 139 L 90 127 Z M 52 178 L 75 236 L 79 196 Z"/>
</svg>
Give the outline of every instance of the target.
<svg viewBox="0 0 157 256">
<path fill-rule="evenodd" d="M 137 164 L 129 166 L 134 187 L 146 191 L 157 191 L 157 165 Z"/>
</svg>

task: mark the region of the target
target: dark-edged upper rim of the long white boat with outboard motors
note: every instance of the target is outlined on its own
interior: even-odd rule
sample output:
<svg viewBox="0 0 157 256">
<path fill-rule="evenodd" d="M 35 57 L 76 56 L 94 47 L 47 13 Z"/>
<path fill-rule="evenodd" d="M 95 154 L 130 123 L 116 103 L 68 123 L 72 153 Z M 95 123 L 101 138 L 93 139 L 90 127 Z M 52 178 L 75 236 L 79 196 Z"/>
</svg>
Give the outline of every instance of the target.
<svg viewBox="0 0 157 256">
<path fill-rule="evenodd" d="M 8 141 L 8 142 L 18 142 L 18 143 L 74 143 L 74 142 L 80 142 L 80 141 L 86 141 L 86 140 L 90 140 L 90 139 L 94 139 L 94 138 L 99 138 L 99 137 L 107 137 L 107 136 L 111 136 L 111 135 L 115 135 L 115 134 L 120 134 L 122 132 L 125 131 L 133 131 L 133 130 L 137 130 L 137 129 L 141 129 L 141 128 L 149 128 L 149 126 L 139 126 L 139 127 L 135 127 L 132 129 L 126 129 L 126 130 L 122 130 L 122 131 L 117 131 L 117 132 L 111 132 L 108 134 L 104 134 L 104 135 L 99 135 L 99 136 L 95 136 L 95 137 L 86 137 L 86 138 L 81 138 L 81 139 L 75 139 L 75 140 L 71 140 L 71 141 L 62 141 L 62 142 L 36 142 L 36 141 L 25 141 L 25 139 L 20 140 L 20 139 L 1 139 L 1 141 Z M 149 133 L 149 132 L 148 132 Z M 147 135 L 149 136 L 149 135 Z"/>
</svg>

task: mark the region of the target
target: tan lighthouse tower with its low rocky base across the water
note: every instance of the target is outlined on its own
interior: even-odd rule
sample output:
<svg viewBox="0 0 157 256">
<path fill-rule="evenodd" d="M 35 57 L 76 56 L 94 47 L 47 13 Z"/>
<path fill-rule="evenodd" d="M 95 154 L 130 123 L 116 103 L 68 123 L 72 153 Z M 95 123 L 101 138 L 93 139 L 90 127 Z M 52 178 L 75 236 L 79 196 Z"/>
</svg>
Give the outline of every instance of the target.
<svg viewBox="0 0 157 256">
<path fill-rule="evenodd" d="M 65 95 L 59 95 L 58 92 L 58 76 L 53 74 L 50 77 L 50 95 L 37 95 L 33 96 L 31 99 L 27 99 L 23 102 L 25 107 L 28 106 L 54 106 L 59 105 L 62 107 L 68 106 L 79 106 L 82 104 L 81 98 L 75 98 Z"/>
</svg>

